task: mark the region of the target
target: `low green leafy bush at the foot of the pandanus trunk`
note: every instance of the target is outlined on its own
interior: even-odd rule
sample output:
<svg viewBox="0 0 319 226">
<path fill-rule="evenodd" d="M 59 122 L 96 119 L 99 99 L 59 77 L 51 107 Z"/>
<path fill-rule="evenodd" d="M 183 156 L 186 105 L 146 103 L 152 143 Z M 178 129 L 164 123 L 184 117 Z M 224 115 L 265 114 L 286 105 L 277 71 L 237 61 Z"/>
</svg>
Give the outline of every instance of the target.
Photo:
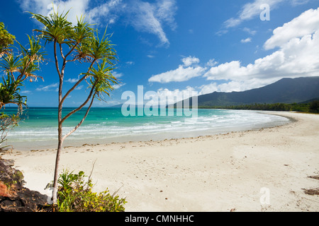
<svg viewBox="0 0 319 226">
<path fill-rule="evenodd" d="M 73 174 L 65 170 L 58 179 L 57 211 L 59 212 L 123 212 L 125 198 L 109 194 L 108 190 L 95 193 L 84 172 Z"/>
</svg>

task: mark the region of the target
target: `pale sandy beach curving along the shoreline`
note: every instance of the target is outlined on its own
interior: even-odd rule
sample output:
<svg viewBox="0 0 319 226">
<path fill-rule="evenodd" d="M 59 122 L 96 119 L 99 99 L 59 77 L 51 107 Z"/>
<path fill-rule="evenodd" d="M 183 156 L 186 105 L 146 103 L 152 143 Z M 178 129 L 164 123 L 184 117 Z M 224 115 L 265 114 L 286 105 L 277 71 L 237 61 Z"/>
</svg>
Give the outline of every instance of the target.
<svg viewBox="0 0 319 226">
<path fill-rule="evenodd" d="M 318 211 L 319 115 L 256 131 L 165 141 L 65 147 L 60 169 L 92 172 L 96 191 L 126 197 L 130 211 Z M 29 189 L 53 179 L 55 150 L 13 150 Z"/>
</svg>

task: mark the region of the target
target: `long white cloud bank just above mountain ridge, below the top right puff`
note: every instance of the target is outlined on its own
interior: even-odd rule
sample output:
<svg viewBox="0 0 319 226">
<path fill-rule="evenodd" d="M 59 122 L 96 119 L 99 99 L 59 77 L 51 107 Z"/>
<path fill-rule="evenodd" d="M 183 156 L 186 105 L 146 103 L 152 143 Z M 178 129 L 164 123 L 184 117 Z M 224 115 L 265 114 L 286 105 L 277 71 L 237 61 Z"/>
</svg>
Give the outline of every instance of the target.
<svg viewBox="0 0 319 226">
<path fill-rule="evenodd" d="M 237 90 L 257 88 L 272 83 L 280 78 L 296 78 L 319 75 L 319 30 L 313 35 L 301 39 L 294 38 L 283 44 L 281 49 L 242 66 L 240 61 L 226 62 L 212 67 L 204 77 L 208 80 L 230 80 L 240 87 Z M 254 80 L 254 83 L 252 83 Z M 219 90 L 226 90 L 220 86 Z M 235 90 L 235 89 L 233 89 Z"/>
</svg>

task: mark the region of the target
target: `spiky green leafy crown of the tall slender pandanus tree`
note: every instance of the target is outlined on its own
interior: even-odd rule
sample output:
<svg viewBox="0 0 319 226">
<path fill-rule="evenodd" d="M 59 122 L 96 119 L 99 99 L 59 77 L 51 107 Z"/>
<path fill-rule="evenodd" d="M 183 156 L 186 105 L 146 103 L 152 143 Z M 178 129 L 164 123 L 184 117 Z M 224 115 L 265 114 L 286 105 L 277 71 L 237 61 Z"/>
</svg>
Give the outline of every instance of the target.
<svg viewBox="0 0 319 226">
<path fill-rule="evenodd" d="M 99 37 L 99 30 L 92 28 L 92 25 L 84 22 L 84 17 L 77 18 L 77 24 L 72 25 L 67 21 L 67 13 L 59 14 L 55 12 L 52 16 L 43 16 L 31 13 L 33 18 L 43 24 L 42 30 L 35 30 L 40 33 L 40 39 L 45 43 L 53 42 L 55 48 L 55 64 L 63 81 L 64 69 L 67 62 L 79 61 L 89 63 L 90 66 L 86 73 L 82 76 L 78 83 L 74 84 L 74 88 L 82 81 L 86 81 L 88 88 L 93 90 L 92 95 L 99 100 L 103 100 L 103 94 L 110 95 L 113 85 L 118 84 L 117 79 L 112 76 L 116 59 L 116 51 L 113 44 L 106 35 L 106 30 L 102 37 Z M 67 52 L 65 51 L 67 45 Z M 62 57 L 62 67 L 59 67 L 57 54 Z M 69 95 L 69 92 L 67 92 Z M 67 96 L 65 95 L 65 97 Z M 65 97 L 62 99 L 65 100 Z"/>
</svg>

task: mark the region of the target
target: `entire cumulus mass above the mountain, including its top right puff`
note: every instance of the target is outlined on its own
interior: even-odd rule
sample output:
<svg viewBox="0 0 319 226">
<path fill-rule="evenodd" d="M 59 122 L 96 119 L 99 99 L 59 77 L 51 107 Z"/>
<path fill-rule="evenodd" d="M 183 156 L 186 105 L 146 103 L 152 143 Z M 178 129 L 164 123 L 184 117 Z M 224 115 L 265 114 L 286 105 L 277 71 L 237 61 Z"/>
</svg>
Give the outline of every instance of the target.
<svg viewBox="0 0 319 226">
<path fill-rule="evenodd" d="M 221 85 L 202 87 L 211 90 L 242 91 L 258 88 L 280 78 L 319 76 L 319 8 L 310 9 L 289 23 L 274 30 L 274 35 L 264 44 L 265 49 L 279 49 L 266 57 L 244 66 L 240 61 L 230 61 L 209 69 L 207 80 L 229 80 Z M 204 89 L 205 88 L 205 89 Z"/>
</svg>

